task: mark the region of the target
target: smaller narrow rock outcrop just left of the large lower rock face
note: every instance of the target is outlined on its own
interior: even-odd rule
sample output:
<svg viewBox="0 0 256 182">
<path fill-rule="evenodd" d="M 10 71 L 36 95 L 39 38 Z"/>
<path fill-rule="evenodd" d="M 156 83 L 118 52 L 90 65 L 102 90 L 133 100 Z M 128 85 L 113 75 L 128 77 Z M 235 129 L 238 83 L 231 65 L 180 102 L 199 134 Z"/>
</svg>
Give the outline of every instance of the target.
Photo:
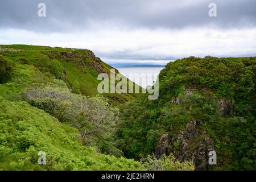
<svg viewBox="0 0 256 182">
<path fill-rule="evenodd" d="M 162 135 L 160 137 L 158 145 L 155 147 L 155 156 L 160 158 L 164 154 L 168 154 L 168 146 L 170 144 L 170 139 L 168 134 Z"/>
</svg>

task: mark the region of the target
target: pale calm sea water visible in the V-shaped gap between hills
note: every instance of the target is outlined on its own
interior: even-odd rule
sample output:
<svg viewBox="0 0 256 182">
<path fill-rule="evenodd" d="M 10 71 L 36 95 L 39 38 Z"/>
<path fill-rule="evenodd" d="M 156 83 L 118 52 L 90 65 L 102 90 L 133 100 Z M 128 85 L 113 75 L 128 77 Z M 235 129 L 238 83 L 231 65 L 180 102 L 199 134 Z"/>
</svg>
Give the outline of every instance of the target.
<svg viewBox="0 0 256 182">
<path fill-rule="evenodd" d="M 156 81 L 156 76 L 164 67 L 115 67 L 118 71 L 134 81 L 136 84 L 146 88 Z"/>
</svg>

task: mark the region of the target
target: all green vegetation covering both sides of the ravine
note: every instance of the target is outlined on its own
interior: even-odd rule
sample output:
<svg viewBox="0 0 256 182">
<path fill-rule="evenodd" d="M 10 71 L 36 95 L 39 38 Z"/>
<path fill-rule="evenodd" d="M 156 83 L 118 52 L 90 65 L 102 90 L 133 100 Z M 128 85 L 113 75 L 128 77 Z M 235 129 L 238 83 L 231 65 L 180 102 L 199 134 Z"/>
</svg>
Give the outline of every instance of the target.
<svg viewBox="0 0 256 182">
<path fill-rule="evenodd" d="M 0 169 L 256 169 L 256 57 L 169 63 L 157 100 L 99 96 L 110 68 L 86 49 L 1 46 Z"/>
</svg>

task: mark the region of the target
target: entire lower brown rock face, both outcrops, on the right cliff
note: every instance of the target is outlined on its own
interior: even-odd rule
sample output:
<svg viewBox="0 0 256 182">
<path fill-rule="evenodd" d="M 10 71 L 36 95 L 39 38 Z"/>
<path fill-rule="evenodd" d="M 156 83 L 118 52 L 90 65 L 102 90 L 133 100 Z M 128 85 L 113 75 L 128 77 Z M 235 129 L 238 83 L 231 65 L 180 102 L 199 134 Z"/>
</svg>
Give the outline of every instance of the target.
<svg viewBox="0 0 256 182">
<path fill-rule="evenodd" d="M 168 134 L 162 135 L 155 147 L 155 156 L 160 158 L 172 152 L 177 159 L 183 162 L 191 160 L 197 170 L 206 170 L 210 168 L 209 151 L 214 151 L 214 140 L 207 137 L 199 122 L 191 121 L 187 123 L 184 131 L 180 131 L 174 137 Z"/>
</svg>

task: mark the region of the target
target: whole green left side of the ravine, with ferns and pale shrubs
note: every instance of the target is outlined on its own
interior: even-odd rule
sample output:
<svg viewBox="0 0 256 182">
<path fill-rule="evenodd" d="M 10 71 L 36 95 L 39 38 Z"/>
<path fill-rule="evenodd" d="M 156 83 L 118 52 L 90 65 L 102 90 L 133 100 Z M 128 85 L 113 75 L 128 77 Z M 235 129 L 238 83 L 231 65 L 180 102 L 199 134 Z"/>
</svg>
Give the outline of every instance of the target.
<svg viewBox="0 0 256 182">
<path fill-rule="evenodd" d="M 0 170 L 193 170 L 172 155 L 123 158 L 115 105 L 134 96 L 97 96 L 97 73 L 110 67 L 90 56 L 89 50 L 1 46 Z M 46 165 L 38 164 L 39 151 L 46 152 Z"/>
</svg>

